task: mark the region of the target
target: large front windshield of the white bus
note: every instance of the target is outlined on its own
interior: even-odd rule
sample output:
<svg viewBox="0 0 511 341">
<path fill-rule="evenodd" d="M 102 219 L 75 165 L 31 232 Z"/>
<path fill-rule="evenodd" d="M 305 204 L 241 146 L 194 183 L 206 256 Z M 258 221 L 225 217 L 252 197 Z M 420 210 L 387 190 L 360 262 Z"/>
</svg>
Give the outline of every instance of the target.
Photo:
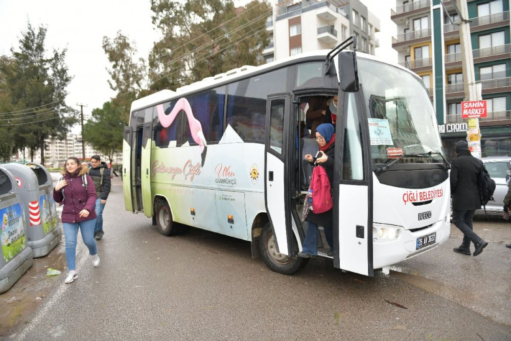
<svg viewBox="0 0 511 341">
<path fill-rule="evenodd" d="M 396 66 L 363 58 L 357 62 L 373 164 L 400 154 L 421 154 L 400 163 L 442 162 L 436 116 L 423 82 Z"/>
</svg>

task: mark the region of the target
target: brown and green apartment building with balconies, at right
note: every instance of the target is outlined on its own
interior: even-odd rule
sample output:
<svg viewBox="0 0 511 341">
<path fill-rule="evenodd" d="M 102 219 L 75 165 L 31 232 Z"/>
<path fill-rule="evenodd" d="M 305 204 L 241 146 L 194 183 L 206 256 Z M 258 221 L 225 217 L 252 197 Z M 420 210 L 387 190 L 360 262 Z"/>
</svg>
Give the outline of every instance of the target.
<svg viewBox="0 0 511 341">
<path fill-rule="evenodd" d="M 453 158 L 454 144 L 466 139 L 468 127 L 467 120 L 461 118 L 464 92 L 459 27 L 452 24 L 460 18 L 454 0 L 444 0 L 443 4 L 447 13 L 439 7 L 440 0 L 397 0 L 396 10 L 391 10 L 398 31 L 392 48 L 398 51 L 401 65 L 422 77 L 433 103 L 443 104 L 435 105 L 435 109 L 444 148 Z M 482 156 L 511 155 L 509 0 L 468 0 L 467 5 L 475 77 L 488 110 L 487 117 L 479 122 Z M 431 19 L 435 17 L 433 10 L 440 13 L 438 19 Z M 438 29 L 443 39 L 432 39 Z M 439 57 L 443 65 L 436 69 L 434 53 L 442 48 L 445 53 Z"/>
</svg>

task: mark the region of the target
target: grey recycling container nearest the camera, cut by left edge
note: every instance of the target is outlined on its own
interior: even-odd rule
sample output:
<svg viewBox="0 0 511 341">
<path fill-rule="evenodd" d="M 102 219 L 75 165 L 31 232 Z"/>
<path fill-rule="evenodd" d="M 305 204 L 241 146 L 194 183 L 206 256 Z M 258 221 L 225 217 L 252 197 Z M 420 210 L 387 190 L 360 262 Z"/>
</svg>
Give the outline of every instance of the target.
<svg viewBox="0 0 511 341">
<path fill-rule="evenodd" d="M 0 166 L 0 293 L 7 291 L 32 266 L 32 248 L 28 246 L 25 209 L 14 176 Z"/>
</svg>

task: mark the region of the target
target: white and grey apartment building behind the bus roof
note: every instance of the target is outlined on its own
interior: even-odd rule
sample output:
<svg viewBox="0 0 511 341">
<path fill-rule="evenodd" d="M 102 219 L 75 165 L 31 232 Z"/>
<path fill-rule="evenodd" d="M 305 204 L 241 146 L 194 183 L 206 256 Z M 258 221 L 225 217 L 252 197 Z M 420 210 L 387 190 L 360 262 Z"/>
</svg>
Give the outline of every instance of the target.
<svg viewBox="0 0 511 341">
<path fill-rule="evenodd" d="M 348 36 L 358 50 L 375 54 L 380 20 L 358 0 L 287 0 L 275 4 L 266 28 L 271 32 L 263 51 L 266 62 L 301 52 L 332 49 Z"/>
</svg>

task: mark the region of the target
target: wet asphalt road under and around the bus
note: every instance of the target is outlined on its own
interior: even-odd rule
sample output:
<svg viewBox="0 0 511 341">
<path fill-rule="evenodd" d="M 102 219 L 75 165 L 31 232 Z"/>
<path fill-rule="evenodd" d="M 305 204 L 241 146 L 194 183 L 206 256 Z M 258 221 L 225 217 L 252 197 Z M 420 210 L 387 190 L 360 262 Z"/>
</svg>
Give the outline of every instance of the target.
<svg viewBox="0 0 511 341">
<path fill-rule="evenodd" d="M 478 221 L 490 241 L 478 257 L 451 251 L 461 241 L 453 230 L 374 278 L 327 259 L 285 276 L 252 259 L 249 242 L 196 229 L 161 236 L 124 210 L 120 185 L 103 214 L 100 266 L 80 242 L 78 279 L 52 278 L 9 339 L 511 339 L 511 224 Z"/>
</svg>

